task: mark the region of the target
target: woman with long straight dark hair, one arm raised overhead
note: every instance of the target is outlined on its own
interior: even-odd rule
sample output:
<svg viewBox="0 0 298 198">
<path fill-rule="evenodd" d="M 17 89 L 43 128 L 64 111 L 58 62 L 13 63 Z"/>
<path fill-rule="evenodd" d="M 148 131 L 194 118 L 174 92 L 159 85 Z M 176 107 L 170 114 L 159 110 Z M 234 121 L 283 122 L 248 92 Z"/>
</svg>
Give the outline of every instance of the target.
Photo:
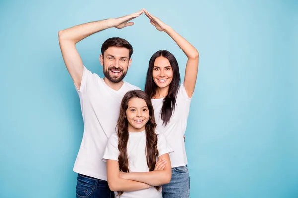
<svg viewBox="0 0 298 198">
<path fill-rule="evenodd" d="M 187 56 L 185 77 L 180 85 L 179 67 L 176 58 L 168 51 L 157 51 L 149 61 L 145 92 L 152 99 L 157 131 L 166 136 L 174 152 L 170 153 L 172 178 L 162 186 L 163 198 L 187 198 L 190 180 L 184 145 L 184 133 L 189 114 L 191 97 L 195 89 L 199 53 L 170 26 L 148 11 L 146 16 L 157 30 L 167 33 Z"/>
</svg>

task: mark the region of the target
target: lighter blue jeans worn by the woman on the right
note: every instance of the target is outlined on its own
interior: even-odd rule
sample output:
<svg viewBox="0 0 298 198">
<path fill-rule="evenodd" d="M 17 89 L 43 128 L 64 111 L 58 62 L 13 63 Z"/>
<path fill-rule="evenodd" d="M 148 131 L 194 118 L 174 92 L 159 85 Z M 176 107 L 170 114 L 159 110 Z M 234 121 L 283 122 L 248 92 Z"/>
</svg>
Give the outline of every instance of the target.
<svg viewBox="0 0 298 198">
<path fill-rule="evenodd" d="M 162 185 L 163 198 L 189 198 L 190 179 L 187 166 L 172 168 L 170 183 Z"/>
</svg>

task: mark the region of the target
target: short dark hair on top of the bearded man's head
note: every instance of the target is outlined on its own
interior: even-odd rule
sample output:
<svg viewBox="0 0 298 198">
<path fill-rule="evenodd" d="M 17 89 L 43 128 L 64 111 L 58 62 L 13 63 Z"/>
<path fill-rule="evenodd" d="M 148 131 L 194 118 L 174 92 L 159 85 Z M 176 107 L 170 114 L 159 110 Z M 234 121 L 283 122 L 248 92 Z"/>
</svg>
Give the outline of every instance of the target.
<svg viewBox="0 0 298 198">
<path fill-rule="evenodd" d="M 112 46 L 127 48 L 129 50 L 129 57 L 128 57 L 129 59 L 131 58 L 134 52 L 133 46 L 128 41 L 119 37 L 112 37 L 105 40 L 105 42 L 103 42 L 101 46 L 101 54 L 103 55 L 105 50 L 107 50 L 109 47 L 112 47 Z"/>
</svg>

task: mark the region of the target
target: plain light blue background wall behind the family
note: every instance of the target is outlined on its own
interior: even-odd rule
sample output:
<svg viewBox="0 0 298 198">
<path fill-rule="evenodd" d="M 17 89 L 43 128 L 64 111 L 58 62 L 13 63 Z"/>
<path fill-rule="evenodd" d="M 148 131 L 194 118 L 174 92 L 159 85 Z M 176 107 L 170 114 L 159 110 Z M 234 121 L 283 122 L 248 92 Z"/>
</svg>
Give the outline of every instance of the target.
<svg viewBox="0 0 298 198">
<path fill-rule="evenodd" d="M 297 0 L 0 1 L 0 198 L 74 198 L 83 133 L 58 31 L 146 8 L 200 53 L 186 131 L 191 198 L 298 197 Z M 126 81 L 144 88 L 151 55 L 186 57 L 145 15 L 77 44 L 86 67 L 109 37 L 134 47 Z"/>
</svg>

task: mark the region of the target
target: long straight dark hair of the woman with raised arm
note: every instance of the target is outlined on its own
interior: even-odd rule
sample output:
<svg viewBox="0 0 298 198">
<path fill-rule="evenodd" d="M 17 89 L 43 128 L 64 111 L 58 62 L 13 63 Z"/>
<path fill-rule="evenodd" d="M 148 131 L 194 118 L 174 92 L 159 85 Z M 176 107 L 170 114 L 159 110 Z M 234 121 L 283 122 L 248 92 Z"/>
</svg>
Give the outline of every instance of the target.
<svg viewBox="0 0 298 198">
<path fill-rule="evenodd" d="M 173 70 L 173 78 L 172 82 L 170 83 L 169 91 L 166 97 L 163 99 L 163 104 L 161 108 L 161 120 L 163 121 L 163 124 L 166 126 L 173 114 L 173 111 L 175 110 L 176 105 L 176 98 L 177 93 L 180 85 L 180 73 L 179 73 L 179 66 L 178 62 L 173 54 L 171 54 L 167 50 L 160 50 L 153 54 L 149 61 L 149 66 L 147 70 L 147 76 L 146 76 L 146 83 L 145 83 L 145 92 L 149 95 L 149 97 L 152 99 L 156 94 L 157 85 L 153 80 L 153 69 L 154 69 L 154 63 L 156 58 L 158 57 L 165 57 L 169 60 L 170 65 Z"/>
</svg>

